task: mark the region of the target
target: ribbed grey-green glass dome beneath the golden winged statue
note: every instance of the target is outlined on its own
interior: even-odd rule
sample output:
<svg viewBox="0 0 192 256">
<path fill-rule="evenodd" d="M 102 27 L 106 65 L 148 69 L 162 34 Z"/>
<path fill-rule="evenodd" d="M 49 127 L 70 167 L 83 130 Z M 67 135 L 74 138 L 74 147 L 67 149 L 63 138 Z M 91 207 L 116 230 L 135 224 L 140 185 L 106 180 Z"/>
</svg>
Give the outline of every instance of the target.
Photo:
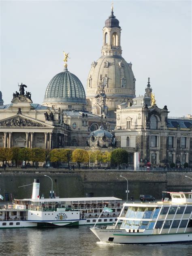
<svg viewBox="0 0 192 256">
<path fill-rule="evenodd" d="M 47 86 L 43 103 L 49 102 L 87 104 L 81 81 L 66 67 L 63 72 L 55 75 Z"/>
</svg>

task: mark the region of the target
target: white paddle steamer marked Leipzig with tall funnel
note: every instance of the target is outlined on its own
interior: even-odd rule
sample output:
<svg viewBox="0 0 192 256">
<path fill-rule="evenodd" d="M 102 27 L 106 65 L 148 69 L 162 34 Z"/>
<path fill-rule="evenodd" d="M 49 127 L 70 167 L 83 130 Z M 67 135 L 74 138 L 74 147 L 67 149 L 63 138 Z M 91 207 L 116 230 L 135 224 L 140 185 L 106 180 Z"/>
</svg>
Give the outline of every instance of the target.
<svg viewBox="0 0 192 256">
<path fill-rule="evenodd" d="M 35 179 L 32 198 L 14 199 L 0 209 L 0 228 L 113 224 L 121 212 L 116 197 L 40 198 L 39 187 Z M 113 211 L 103 212 L 105 206 Z"/>
</svg>

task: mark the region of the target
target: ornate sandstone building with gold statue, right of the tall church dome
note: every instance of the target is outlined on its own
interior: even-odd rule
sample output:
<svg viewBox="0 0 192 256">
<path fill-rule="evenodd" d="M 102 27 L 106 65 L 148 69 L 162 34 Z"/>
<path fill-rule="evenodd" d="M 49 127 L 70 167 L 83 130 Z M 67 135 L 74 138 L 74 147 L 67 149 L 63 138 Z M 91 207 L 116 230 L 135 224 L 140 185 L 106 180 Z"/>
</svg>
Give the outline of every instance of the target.
<svg viewBox="0 0 192 256">
<path fill-rule="evenodd" d="M 167 106 L 160 109 L 156 105 L 149 79 L 145 96 L 118 107 L 115 138 L 117 146 L 129 152 L 130 163 L 134 152 L 139 152 L 141 165 L 192 165 L 192 119 L 168 118 Z"/>
</svg>

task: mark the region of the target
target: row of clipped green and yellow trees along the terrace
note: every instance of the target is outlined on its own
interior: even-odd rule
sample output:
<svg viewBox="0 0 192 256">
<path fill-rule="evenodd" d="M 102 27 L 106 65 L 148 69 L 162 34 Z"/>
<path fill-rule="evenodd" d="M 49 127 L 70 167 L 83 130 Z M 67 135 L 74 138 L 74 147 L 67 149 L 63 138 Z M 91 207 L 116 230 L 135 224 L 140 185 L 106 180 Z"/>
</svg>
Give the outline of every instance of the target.
<svg viewBox="0 0 192 256">
<path fill-rule="evenodd" d="M 0 161 L 6 164 L 8 161 L 15 162 L 17 167 L 19 161 L 24 161 L 25 166 L 27 162 L 33 162 L 33 166 L 38 166 L 38 162 L 54 162 L 59 166 L 61 162 L 67 162 L 68 167 L 70 162 L 77 162 L 77 167 L 81 163 L 87 163 L 88 168 L 90 163 L 109 162 L 119 167 L 119 164 L 128 163 L 128 152 L 125 149 L 114 149 L 111 152 L 101 152 L 100 150 L 91 151 L 85 149 L 42 149 L 42 148 L 4 148 L 0 147 Z"/>
</svg>

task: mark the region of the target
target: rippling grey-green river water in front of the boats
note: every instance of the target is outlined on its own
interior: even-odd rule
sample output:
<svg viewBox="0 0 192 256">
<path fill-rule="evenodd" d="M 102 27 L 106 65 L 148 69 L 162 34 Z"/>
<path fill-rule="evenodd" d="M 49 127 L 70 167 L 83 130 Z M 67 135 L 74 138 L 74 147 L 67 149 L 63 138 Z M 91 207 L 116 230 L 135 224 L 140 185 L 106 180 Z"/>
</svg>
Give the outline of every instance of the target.
<svg viewBox="0 0 192 256">
<path fill-rule="evenodd" d="M 191 256 L 192 244 L 115 245 L 102 244 L 90 226 L 68 228 L 18 228 L 0 230 L 1 255 L 78 256 Z"/>
</svg>

